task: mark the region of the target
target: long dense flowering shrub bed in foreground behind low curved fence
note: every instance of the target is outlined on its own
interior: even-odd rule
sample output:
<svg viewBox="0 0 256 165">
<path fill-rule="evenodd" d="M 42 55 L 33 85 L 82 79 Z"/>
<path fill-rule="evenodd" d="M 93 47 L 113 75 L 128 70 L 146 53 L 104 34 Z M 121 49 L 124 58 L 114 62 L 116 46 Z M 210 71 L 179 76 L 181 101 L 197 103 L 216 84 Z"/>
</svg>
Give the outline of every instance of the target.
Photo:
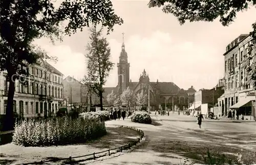
<svg viewBox="0 0 256 165">
<path fill-rule="evenodd" d="M 106 134 L 104 122 L 79 117 L 57 117 L 47 120 L 24 120 L 15 123 L 12 142 L 25 147 L 57 146 L 84 143 Z"/>
</svg>

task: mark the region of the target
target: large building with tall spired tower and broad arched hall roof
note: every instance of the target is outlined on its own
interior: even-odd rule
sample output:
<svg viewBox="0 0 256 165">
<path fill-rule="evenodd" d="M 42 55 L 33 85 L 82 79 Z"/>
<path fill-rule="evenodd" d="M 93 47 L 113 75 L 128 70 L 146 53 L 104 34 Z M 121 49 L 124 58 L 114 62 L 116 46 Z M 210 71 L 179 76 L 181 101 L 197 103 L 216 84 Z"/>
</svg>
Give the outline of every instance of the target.
<svg viewBox="0 0 256 165">
<path fill-rule="evenodd" d="M 179 88 L 174 82 L 159 82 L 158 80 L 152 82 L 145 69 L 140 75 L 139 80 L 132 82 L 132 80 L 130 80 L 130 63 L 128 62 L 124 42 L 122 43 L 122 50 L 117 67 L 118 84 L 116 87 L 104 88 L 104 100 L 106 100 L 106 96 L 112 91 L 117 95 L 121 95 L 127 87 L 130 87 L 130 89 L 134 91 L 135 96 L 141 91 L 148 94 L 149 90 L 151 110 L 160 108 L 172 110 L 174 107 L 183 110 L 183 108 L 188 108 L 188 104 L 194 101 L 194 93 L 196 90 L 193 86 L 184 90 Z"/>
</svg>

